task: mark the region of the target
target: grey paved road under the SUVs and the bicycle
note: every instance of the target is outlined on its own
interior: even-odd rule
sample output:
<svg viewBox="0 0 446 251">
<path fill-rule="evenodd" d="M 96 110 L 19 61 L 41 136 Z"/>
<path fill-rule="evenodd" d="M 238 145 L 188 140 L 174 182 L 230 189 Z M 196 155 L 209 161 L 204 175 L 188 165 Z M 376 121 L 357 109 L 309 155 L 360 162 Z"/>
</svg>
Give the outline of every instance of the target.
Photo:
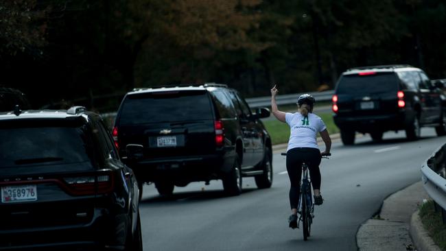
<svg viewBox="0 0 446 251">
<path fill-rule="evenodd" d="M 331 159 L 322 160 L 322 195 L 309 241 L 290 230 L 285 158 L 274 154 L 274 182 L 259 190 L 244 179 L 244 193 L 224 197 L 220 181 L 176 187 L 161 198 L 146 185 L 141 202 L 144 250 L 357 250 L 360 224 L 379 210 L 390 193 L 420 180 L 421 163 L 443 144 L 434 130 L 408 142 L 400 132 L 384 134 L 382 143 L 368 136 L 345 147 L 333 143 Z"/>
</svg>

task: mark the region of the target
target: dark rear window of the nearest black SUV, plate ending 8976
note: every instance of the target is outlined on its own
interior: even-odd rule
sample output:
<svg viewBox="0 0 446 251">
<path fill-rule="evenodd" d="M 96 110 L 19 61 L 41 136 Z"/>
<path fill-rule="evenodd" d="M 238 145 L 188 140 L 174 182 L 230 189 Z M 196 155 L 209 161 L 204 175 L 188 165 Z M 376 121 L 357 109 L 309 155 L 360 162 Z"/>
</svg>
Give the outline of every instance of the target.
<svg viewBox="0 0 446 251">
<path fill-rule="evenodd" d="M 91 161 L 91 142 L 82 127 L 2 127 L 0 139 L 0 168 Z"/>
</svg>

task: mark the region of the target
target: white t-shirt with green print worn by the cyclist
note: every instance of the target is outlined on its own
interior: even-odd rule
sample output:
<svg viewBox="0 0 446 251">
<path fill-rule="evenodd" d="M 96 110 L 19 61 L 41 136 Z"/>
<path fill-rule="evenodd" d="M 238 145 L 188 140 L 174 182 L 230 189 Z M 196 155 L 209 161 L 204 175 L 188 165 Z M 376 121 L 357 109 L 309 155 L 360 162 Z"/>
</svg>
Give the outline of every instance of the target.
<svg viewBox="0 0 446 251">
<path fill-rule="evenodd" d="M 309 112 L 303 117 L 300 112 L 285 113 L 285 121 L 290 125 L 290 140 L 287 151 L 295 147 L 318 148 L 316 136 L 318 132 L 327 129 L 324 121 L 318 115 Z"/>
</svg>

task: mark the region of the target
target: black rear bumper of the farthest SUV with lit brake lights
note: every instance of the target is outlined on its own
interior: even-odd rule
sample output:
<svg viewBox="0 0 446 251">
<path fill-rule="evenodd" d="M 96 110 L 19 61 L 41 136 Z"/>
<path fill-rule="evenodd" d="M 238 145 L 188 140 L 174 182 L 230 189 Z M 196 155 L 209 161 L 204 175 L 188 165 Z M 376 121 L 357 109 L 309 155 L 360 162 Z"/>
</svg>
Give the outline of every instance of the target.
<svg viewBox="0 0 446 251">
<path fill-rule="evenodd" d="M 334 115 L 333 120 L 341 130 L 354 130 L 355 132 L 386 132 L 404 130 L 412 124 L 414 114 L 398 112 L 389 115 L 352 116 Z"/>
</svg>

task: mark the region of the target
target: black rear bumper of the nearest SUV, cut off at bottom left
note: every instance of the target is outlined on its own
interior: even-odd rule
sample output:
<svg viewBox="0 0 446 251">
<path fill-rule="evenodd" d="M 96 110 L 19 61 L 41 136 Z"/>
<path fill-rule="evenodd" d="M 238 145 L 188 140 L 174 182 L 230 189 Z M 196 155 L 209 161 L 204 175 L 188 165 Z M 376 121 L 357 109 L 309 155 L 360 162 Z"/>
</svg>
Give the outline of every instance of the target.
<svg viewBox="0 0 446 251">
<path fill-rule="evenodd" d="M 122 250 L 126 215 L 107 212 L 96 208 L 88 224 L 0 230 L 0 250 Z"/>
</svg>

